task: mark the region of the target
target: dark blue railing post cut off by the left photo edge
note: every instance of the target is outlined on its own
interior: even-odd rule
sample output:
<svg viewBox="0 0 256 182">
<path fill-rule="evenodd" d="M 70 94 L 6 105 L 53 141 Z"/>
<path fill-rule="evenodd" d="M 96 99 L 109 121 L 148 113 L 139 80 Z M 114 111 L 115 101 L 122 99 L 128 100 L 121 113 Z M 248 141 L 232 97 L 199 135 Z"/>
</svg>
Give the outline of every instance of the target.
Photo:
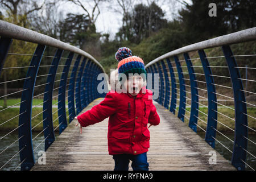
<svg viewBox="0 0 256 182">
<path fill-rule="evenodd" d="M 0 39 L 0 75 L 12 42 L 13 40 L 10 38 L 1 37 Z"/>
</svg>

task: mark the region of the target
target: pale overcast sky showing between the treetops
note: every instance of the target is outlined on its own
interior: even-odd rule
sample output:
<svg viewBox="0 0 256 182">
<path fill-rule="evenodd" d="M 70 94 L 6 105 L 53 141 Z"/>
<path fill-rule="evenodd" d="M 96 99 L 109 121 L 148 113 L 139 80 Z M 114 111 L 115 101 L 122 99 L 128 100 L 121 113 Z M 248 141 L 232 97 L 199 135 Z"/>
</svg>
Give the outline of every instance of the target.
<svg viewBox="0 0 256 182">
<path fill-rule="evenodd" d="M 158 0 L 158 5 L 162 8 L 165 12 L 165 18 L 168 20 L 172 20 L 177 14 L 177 11 L 183 6 L 179 0 Z M 190 0 L 186 0 L 186 2 L 190 3 Z M 118 13 L 113 9 L 113 7 L 118 8 L 116 0 L 109 1 L 109 2 L 102 2 L 100 4 L 100 15 L 96 21 L 96 30 L 97 32 L 101 33 L 108 33 L 110 34 L 110 39 L 113 39 L 115 33 L 118 32 L 119 28 L 122 25 L 122 14 Z M 147 0 L 135 0 L 134 4 L 144 3 L 147 4 Z M 86 3 L 84 4 L 86 5 Z M 92 3 L 93 5 L 93 3 Z M 110 6 L 112 5 L 112 6 Z M 89 12 L 92 11 L 92 7 L 87 4 Z M 75 14 L 82 14 L 84 10 L 82 10 L 79 6 L 73 5 L 72 3 L 63 3 L 60 6 L 60 9 L 64 11 L 64 13 L 75 13 Z"/>
</svg>

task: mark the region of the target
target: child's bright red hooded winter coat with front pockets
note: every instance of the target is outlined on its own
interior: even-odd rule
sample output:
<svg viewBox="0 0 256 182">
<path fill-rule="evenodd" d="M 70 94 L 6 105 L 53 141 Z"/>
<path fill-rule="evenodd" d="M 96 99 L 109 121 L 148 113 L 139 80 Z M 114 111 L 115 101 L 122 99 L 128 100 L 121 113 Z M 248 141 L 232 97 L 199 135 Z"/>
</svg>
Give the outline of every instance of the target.
<svg viewBox="0 0 256 182">
<path fill-rule="evenodd" d="M 137 155 L 148 151 L 150 131 L 147 123 L 159 125 L 160 122 L 156 107 L 152 103 L 151 90 L 146 89 L 144 94 L 141 90 L 137 97 L 129 93 L 109 92 L 100 104 L 79 115 L 77 119 L 82 127 L 86 127 L 108 117 L 109 155 Z"/>
</svg>

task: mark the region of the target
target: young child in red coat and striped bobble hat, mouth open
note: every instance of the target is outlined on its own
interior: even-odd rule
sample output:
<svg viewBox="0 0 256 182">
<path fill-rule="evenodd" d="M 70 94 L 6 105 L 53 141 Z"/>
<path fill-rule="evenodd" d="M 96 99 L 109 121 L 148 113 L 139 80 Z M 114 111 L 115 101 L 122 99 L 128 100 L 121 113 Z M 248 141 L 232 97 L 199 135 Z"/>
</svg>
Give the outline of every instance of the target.
<svg viewBox="0 0 256 182">
<path fill-rule="evenodd" d="M 82 127 L 109 117 L 108 149 L 115 162 L 114 171 L 128 171 L 130 160 L 133 170 L 148 171 L 148 128 L 159 125 L 160 118 L 152 103 L 152 91 L 143 86 L 146 80 L 144 62 L 140 57 L 132 56 L 126 47 L 119 48 L 115 58 L 119 61 L 119 75 L 127 76 L 127 80 L 123 80 L 123 91 L 126 92 L 108 92 L 100 104 L 77 117 L 80 125 L 76 126 L 80 127 L 81 133 Z M 138 74 L 131 76 L 131 73 Z"/>
</svg>

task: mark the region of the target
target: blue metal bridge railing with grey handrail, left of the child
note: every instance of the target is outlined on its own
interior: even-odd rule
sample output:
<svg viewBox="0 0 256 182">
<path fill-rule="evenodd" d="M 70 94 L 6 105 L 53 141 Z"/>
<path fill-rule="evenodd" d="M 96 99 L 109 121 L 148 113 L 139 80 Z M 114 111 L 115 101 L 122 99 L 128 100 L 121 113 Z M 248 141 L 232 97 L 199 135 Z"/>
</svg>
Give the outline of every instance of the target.
<svg viewBox="0 0 256 182">
<path fill-rule="evenodd" d="M 36 150 L 39 148 L 42 150 L 44 144 L 43 150 L 46 151 L 55 141 L 57 129 L 61 134 L 68 123 L 90 102 L 98 97 L 105 97 L 106 93 L 100 94 L 95 89 L 98 82 L 101 81 L 97 80 L 98 74 L 105 72 L 97 60 L 81 49 L 1 20 L 0 36 L 0 76 L 12 69 L 19 69 L 20 72 L 26 71 L 26 77 L 5 80 L 0 83 L 1 86 L 14 82 L 23 84 L 23 89 L 0 96 L 1 99 L 11 96 L 17 98 L 16 94 L 21 94 L 20 101 L 16 101 L 16 104 L 0 109 L 0 114 L 16 107 L 19 109 L 19 114 L 14 117 L 10 116 L 6 121 L 0 123 L 1 129 L 11 122 L 14 125 L 18 119 L 16 126 L 11 131 L 1 130 L 0 158 L 2 165 L 0 165 L 0 169 L 30 170 L 35 164 Z M 12 47 L 12 43 L 15 41 L 37 45 L 35 52 L 10 52 L 16 46 L 15 44 Z M 54 51 L 55 55 L 46 55 L 46 52 L 53 53 Z M 10 56 L 27 56 L 27 59 L 31 59 L 30 65 L 7 68 L 5 63 L 11 61 L 12 57 Z M 36 84 L 37 80 L 40 80 L 39 84 Z M 93 91 L 92 88 L 94 88 Z M 40 104 L 33 105 L 35 98 L 40 99 Z M 53 101 L 56 103 L 53 104 Z M 42 118 L 42 121 L 34 123 L 35 119 L 39 118 Z M 36 134 L 32 133 L 39 126 L 42 131 Z M 18 131 L 18 137 L 14 142 L 6 144 L 6 138 L 13 137 L 11 134 L 16 131 Z M 37 146 L 35 146 L 35 140 L 39 140 Z M 14 146 L 18 147 L 15 154 L 10 156 L 6 154 Z M 11 160 L 18 160 L 18 155 L 20 162 L 16 166 L 12 166 Z"/>
</svg>

